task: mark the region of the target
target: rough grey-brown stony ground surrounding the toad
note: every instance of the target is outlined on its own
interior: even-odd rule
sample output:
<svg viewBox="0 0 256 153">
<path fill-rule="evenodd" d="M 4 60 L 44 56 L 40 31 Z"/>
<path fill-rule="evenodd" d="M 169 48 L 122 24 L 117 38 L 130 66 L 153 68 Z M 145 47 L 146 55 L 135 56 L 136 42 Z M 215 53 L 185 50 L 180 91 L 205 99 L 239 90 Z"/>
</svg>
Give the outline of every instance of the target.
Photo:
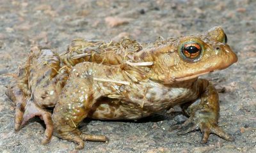
<svg viewBox="0 0 256 153">
<path fill-rule="evenodd" d="M 0 152 L 256 152 L 256 1 L 0 1 Z M 211 135 L 200 144 L 201 133 L 178 136 L 170 126 L 186 118 L 179 109 L 147 119 L 85 120 L 83 131 L 108 136 L 108 143 L 86 142 L 83 150 L 53 136 L 41 145 L 44 124 L 30 120 L 14 132 L 14 106 L 4 95 L 13 73 L 33 45 L 66 50 L 74 38 L 118 40 L 130 36 L 142 42 L 207 31 L 221 25 L 239 61 L 223 71 L 204 76 L 220 93 L 221 128 L 235 142 Z M 178 112 L 177 112 L 178 111 Z M 86 128 L 86 124 L 88 124 Z"/>
</svg>

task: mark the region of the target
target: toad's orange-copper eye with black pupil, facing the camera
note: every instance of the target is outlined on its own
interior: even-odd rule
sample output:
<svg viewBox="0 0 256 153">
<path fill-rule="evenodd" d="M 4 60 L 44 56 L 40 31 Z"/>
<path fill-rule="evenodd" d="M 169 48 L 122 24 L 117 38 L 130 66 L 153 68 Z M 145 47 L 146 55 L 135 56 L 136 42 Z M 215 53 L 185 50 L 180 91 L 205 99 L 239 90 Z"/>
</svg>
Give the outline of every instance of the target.
<svg viewBox="0 0 256 153">
<path fill-rule="evenodd" d="M 182 55 L 188 59 L 197 59 L 202 51 L 202 48 L 197 43 L 186 43 L 181 48 Z"/>
</svg>

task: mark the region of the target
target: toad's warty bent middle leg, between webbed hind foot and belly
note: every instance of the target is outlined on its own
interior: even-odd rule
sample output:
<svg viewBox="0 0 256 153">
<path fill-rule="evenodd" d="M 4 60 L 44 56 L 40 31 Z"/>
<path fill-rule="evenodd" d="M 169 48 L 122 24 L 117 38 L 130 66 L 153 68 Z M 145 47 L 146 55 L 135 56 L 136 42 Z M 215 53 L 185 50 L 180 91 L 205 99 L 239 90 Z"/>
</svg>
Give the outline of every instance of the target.
<svg viewBox="0 0 256 153">
<path fill-rule="evenodd" d="M 76 149 L 83 149 L 83 141 L 106 142 L 102 135 L 86 135 L 77 129 L 78 124 L 87 117 L 95 101 L 102 96 L 93 85 L 93 71 L 90 65 L 81 63 L 74 66 L 67 84 L 61 92 L 60 99 L 54 108 L 52 121 L 54 135 L 77 143 Z M 97 70 L 99 70 L 97 68 Z"/>
</svg>

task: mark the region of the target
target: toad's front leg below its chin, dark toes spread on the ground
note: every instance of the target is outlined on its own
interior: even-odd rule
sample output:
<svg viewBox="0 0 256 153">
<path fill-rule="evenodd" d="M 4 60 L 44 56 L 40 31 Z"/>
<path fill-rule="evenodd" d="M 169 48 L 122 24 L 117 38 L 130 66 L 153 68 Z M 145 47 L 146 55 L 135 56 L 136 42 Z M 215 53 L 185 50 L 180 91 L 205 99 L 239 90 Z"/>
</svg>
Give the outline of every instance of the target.
<svg viewBox="0 0 256 153">
<path fill-rule="evenodd" d="M 184 104 L 182 108 L 189 115 L 189 119 L 179 126 L 180 135 L 200 129 L 202 132 L 202 142 L 208 141 L 210 133 L 214 133 L 225 140 L 234 140 L 218 126 L 218 117 L 220 112 L 219 96 L 216 89 L 207 80 L 198 80 L 199 91 L 203 91 L 200 98 L 196 99 L 191 105 Z"/>
</svg>

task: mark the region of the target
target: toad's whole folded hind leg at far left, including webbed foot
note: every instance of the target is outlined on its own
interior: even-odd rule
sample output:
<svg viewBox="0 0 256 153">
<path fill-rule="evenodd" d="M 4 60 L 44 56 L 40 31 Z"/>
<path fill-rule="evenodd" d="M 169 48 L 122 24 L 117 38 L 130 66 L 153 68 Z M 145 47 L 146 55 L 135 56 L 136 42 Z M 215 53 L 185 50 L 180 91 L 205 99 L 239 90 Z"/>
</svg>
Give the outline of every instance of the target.
<svg viewBox="0 0 256 153">
<path fill-rule="evenodd" d="M 15 131 L 19 131 L 29 119 L 38 115 L 44 120 L 45 138 L 51 140 L 51 113 L 42 108 L 53 107 L 65 84 L 67 74 L 60 74 L 60 58 L 50 48 L 33 47 L 28 61 L 19 69 L 17 77 L 8 87 L 6 95 L 16 104 Z"/>
</svg>

